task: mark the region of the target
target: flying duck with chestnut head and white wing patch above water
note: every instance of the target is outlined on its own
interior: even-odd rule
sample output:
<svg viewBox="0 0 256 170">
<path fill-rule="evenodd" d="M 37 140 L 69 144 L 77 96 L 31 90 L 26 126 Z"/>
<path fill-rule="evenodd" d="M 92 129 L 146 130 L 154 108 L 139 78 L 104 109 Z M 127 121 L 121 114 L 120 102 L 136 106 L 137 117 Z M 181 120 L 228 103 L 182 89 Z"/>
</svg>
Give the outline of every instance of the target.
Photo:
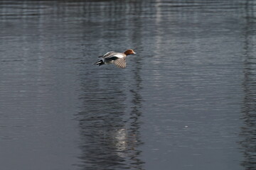
<svg viewBox="0 0 256 170">
<path fill-rule="evenodd" d="M 107 52 L 105 55 L 100 56 L 101 59 L 95 64 L 103 65 L 103 64 L 115 64 L 117 67 L 124 69 L 126 67 L 125 58 L 127 55 L 135 55 L 136 52 L 134 50 L 129 49 L 124 53 L 121 52 Z"/>
</svg>

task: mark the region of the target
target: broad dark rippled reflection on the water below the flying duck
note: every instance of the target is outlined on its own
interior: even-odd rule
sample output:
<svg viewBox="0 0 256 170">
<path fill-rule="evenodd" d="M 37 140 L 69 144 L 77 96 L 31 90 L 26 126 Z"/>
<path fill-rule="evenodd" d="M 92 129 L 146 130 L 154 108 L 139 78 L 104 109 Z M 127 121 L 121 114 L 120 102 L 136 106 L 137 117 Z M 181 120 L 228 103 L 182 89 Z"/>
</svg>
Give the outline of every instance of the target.
<svg viewBox="0 0 256 170">
<path fill-rule="evenodd" d="M 101 73 L 99 79 L 81 75 L 83 105 L 78 122 L 82 169 L 142 169 L 138 149 L 142 145 L 138 87 L 142 80 L 134 72 L 137 70 L 132 72 L 135 78 L 129 85 L 122 74 L 112 77 Z"/>
</svg>

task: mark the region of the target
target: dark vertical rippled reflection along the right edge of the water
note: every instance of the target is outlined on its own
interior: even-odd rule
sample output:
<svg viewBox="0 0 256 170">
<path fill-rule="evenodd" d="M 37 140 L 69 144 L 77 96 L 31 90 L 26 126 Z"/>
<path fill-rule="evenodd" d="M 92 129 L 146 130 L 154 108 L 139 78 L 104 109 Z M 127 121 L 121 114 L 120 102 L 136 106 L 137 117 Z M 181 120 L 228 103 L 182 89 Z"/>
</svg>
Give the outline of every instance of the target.
<svg viewBox="0 0 256 170">
<path fill-rule="evenodd" d="M 244 138 L 240 145 L 245 159 L 242 166 L 245 169 L 255 169 L 256 165 L 256 57 L 255 57 L 255 10 L 252 1 L 245 3 L 245 59 L 244 59 L 244 81 L 242 83 L 245 98 L 242 106 L 242 120 L 240 135 Z"/>
</svg>

